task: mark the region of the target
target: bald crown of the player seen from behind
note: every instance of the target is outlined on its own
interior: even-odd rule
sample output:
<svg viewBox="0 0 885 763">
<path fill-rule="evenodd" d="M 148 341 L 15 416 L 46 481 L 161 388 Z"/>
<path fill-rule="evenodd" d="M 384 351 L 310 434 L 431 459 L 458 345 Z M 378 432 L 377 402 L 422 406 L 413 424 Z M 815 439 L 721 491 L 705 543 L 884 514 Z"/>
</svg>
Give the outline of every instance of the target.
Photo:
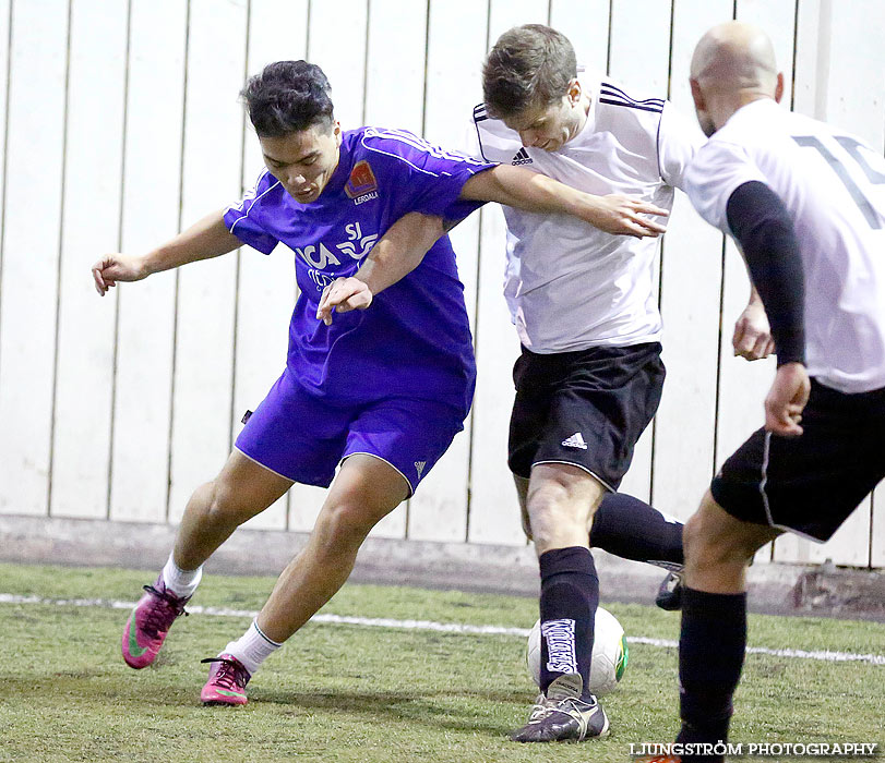
<svg viewBox="0 0 885 763">
<path fill-rule="evenodd" d="M 772 40 L 758 27 L 737 21 L 714 26 L 694 49 L 691 77 L 704 90 L 752 90 L 774 97 L 777 65 Z"/>
</svg>

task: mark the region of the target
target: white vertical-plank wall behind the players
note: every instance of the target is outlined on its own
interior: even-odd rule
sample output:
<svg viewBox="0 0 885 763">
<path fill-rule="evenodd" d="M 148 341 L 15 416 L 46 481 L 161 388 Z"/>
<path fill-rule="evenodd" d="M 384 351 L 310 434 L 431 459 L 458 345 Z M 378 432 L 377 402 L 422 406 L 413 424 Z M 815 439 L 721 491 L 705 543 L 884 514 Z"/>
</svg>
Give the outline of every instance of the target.
<svg viewBox="0 0 885 763">
<path fill-rule="evenodd" d="M 692 119 L 691 52 L 732 12 L 772 35 L 785 105 L 885 148 L 885 48 L 870 34 L 885 27 L 877 0 L 0 0 L 10 88 L 5 113 L 0 76 L 0 511 L 175 521 L 282 372 L 297 293 L 285 247 L 270 257 L 243 247 L 104 300 L 86 274 L 103 252 L 142 254 L 251 186 L 262 162 L 237 104 L 246 74 L 307 58 L 328 75 L 344 129 L 406 128 L 454 148 L 481 100 L 488 47 L 514 25 L 549 23 L 579 61 L 669 93 Z M 474 412 L 376 534 L 522 544 L 505 462 L 518 341 L 501 296 L 500 209 L 452 238 L 479 362 Z M 641 497 L 653 487 L 654 502 L 682 518 L 762 423 L 774 374 L 774 361 L 732 356 L 749 281 L 733 245 L 722 262 L 720 242 L 678 198 L 660 276 L 668 380 L 623 484 Z M 878 492 L 830 543 L 782 537 L 775 558 L 885 565 Z M 324 495 L 296 486 L 250 525 L 309 530 Z"/>
</svg>

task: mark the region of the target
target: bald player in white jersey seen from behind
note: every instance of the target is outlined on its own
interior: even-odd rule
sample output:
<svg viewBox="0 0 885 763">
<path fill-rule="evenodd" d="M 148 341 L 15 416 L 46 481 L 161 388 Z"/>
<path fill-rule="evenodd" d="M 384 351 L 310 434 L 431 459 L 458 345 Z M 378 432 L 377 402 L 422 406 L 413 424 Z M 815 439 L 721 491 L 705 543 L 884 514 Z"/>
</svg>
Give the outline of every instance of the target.
<svg viewBox="0 0 885 763">
<path fill-rule="evenodd" d="M 733 237 L 772 324 L 765 426 L 685 524 L 679 650 L 683 761 L 721 761 L 746 646 L 746 567 L 785 531 L 823 543 L 885 477 L 885 161 L 778 101 L 770 40 L 729 22 L 691 65 L 710 140 L 689 197 Z"/>
</svg>

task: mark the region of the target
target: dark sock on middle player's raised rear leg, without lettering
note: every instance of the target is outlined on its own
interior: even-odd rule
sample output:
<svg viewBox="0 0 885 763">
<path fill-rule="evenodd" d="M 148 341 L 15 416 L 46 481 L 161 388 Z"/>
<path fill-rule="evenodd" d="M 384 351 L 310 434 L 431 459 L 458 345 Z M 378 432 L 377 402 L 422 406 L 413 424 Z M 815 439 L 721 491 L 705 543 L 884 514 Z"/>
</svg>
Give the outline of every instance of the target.
<svg viewBox="0 0 885 763">
<path fill-rule="evenodd" d="M 590 528 L 590 546 L 622 559 L 684 562 L 682 523 L 668 522 L 660 511 L 624 493 L 602 498 Z"/>
</svg>

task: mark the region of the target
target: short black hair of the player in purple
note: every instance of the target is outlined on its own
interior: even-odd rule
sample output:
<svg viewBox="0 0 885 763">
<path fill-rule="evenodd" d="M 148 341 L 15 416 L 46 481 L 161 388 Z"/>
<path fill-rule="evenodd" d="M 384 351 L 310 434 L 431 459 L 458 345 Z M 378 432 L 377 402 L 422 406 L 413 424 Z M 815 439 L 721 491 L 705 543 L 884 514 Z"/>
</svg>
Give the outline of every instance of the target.
<svg viewBox="0 0 885 763">
<path fill-rule="evenodd" d="M 259 135 L 282 137 L 335 121 L 328 80 L 314 63 L 277 61 L 249 77 L 240 98 Z"/>
</svg>

